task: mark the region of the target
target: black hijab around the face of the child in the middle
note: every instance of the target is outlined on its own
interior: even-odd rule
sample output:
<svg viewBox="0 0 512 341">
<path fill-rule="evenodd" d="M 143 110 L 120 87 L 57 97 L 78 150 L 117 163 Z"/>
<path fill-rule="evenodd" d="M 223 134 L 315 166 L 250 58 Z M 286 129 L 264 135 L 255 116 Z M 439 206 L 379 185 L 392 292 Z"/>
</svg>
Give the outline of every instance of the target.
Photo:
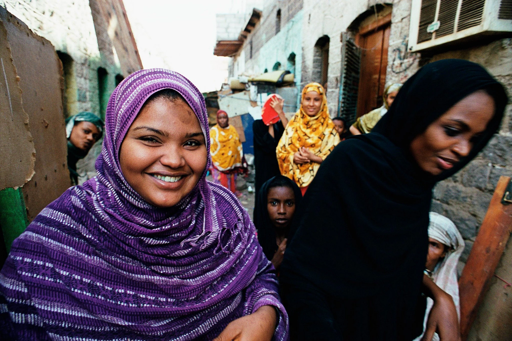
<svg viewBox="0 0 512 341">
<path fill-rule="evenodd" d="M 272 260 L 275 252 L 278 251 L 278 245 L 275 242 L 275 227 L 270 221 L 267 211 L 268 191 L 274 187 L 288 187 L 293 190 L 293 194 L 295 195 L 295 212 L 297 212 L 298 204 L 300 204 L 302 199 L 301 189 L 298 188 L 294 181 L 286 176 L 274 176 L 262 185 L 258 197 L 256 198 L 258 204 L 254 209 L 254 225 L 258 230 L 258 241 L 268 260 Z M 288 238 L 288 231 L 286 236 Z"/>
</svg>

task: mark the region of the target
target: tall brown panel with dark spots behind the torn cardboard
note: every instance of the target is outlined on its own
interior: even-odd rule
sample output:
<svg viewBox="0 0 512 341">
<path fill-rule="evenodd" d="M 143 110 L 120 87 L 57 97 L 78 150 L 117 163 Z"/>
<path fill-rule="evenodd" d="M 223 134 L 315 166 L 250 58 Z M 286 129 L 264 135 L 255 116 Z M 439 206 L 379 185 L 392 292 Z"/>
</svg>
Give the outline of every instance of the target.
<svg viewBox="0 0 512 341">
<path fill-rule="evenodd" d="M 50 41 L 32 33 L 4 8 L 0 8 L 0 19 L 7 29 L 36 150 L 35 174 L 22 189 L 28 218 L 32 220 L 70 187 L 62 66 Z"/>
</svg>

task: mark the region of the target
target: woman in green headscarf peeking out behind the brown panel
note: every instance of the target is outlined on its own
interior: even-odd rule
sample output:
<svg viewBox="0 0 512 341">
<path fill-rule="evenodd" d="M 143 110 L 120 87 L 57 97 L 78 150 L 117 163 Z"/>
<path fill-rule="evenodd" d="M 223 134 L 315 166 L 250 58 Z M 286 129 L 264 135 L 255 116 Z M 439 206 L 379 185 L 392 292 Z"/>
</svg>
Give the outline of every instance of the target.
<svg viewBox="0 0 512 341">
<path fill-rule="evenodd" d="M 66 119 L 68 169 L 73 185 L 78 185 L 77 161 L 86 157 L 92 146 L 101 139 L 103 126 L 103 120 L 88 111 L 82 111 Z"/>
</svg>

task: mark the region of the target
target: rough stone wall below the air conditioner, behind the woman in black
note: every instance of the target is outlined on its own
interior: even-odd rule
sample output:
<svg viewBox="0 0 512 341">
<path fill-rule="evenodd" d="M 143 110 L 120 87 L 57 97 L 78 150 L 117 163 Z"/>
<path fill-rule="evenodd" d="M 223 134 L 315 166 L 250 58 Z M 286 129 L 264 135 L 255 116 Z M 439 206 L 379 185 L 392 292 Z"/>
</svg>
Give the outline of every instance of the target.
<svg viewBox="0 0 512 341">
<path fill-rule="evenodd" d="M 512 94 L 512 40 L 498 39 L 484 44 L 465 44 L 464 49 L 435 55 L 408 53 L 411 0 L 395 0 L 391 18 L 387 83 L 404 82 L 420 65 L 458 58 L 481 64 Z M 485 217 L 490 198 L 501 175 L 512 176 L 512 106 L 508 105 L 500 131 L 487 147 L 464 169 L 441 181 L 434 189 L 432 211 L 454 221 L 466 247 L 459 271 L 471 251 L 478 229 Z"/>
</svg>

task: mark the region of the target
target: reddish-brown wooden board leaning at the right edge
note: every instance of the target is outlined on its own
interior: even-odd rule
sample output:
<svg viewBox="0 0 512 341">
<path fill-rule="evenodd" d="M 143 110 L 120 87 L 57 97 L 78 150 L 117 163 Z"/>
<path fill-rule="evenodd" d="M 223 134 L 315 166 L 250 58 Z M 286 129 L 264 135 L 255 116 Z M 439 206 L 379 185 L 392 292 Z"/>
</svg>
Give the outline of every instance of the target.
<svg viewBox="0 0 512 341">
<path fill-rule="evenodd" d="M 512 203 L 501 202 L 509 182 L 510 177 L 500 177 L 459 279 L 460 330 L 463 341 L 467 338 L 487 291 L 489 279 L 494 275 L 512 232 Z"/>
</svg>

